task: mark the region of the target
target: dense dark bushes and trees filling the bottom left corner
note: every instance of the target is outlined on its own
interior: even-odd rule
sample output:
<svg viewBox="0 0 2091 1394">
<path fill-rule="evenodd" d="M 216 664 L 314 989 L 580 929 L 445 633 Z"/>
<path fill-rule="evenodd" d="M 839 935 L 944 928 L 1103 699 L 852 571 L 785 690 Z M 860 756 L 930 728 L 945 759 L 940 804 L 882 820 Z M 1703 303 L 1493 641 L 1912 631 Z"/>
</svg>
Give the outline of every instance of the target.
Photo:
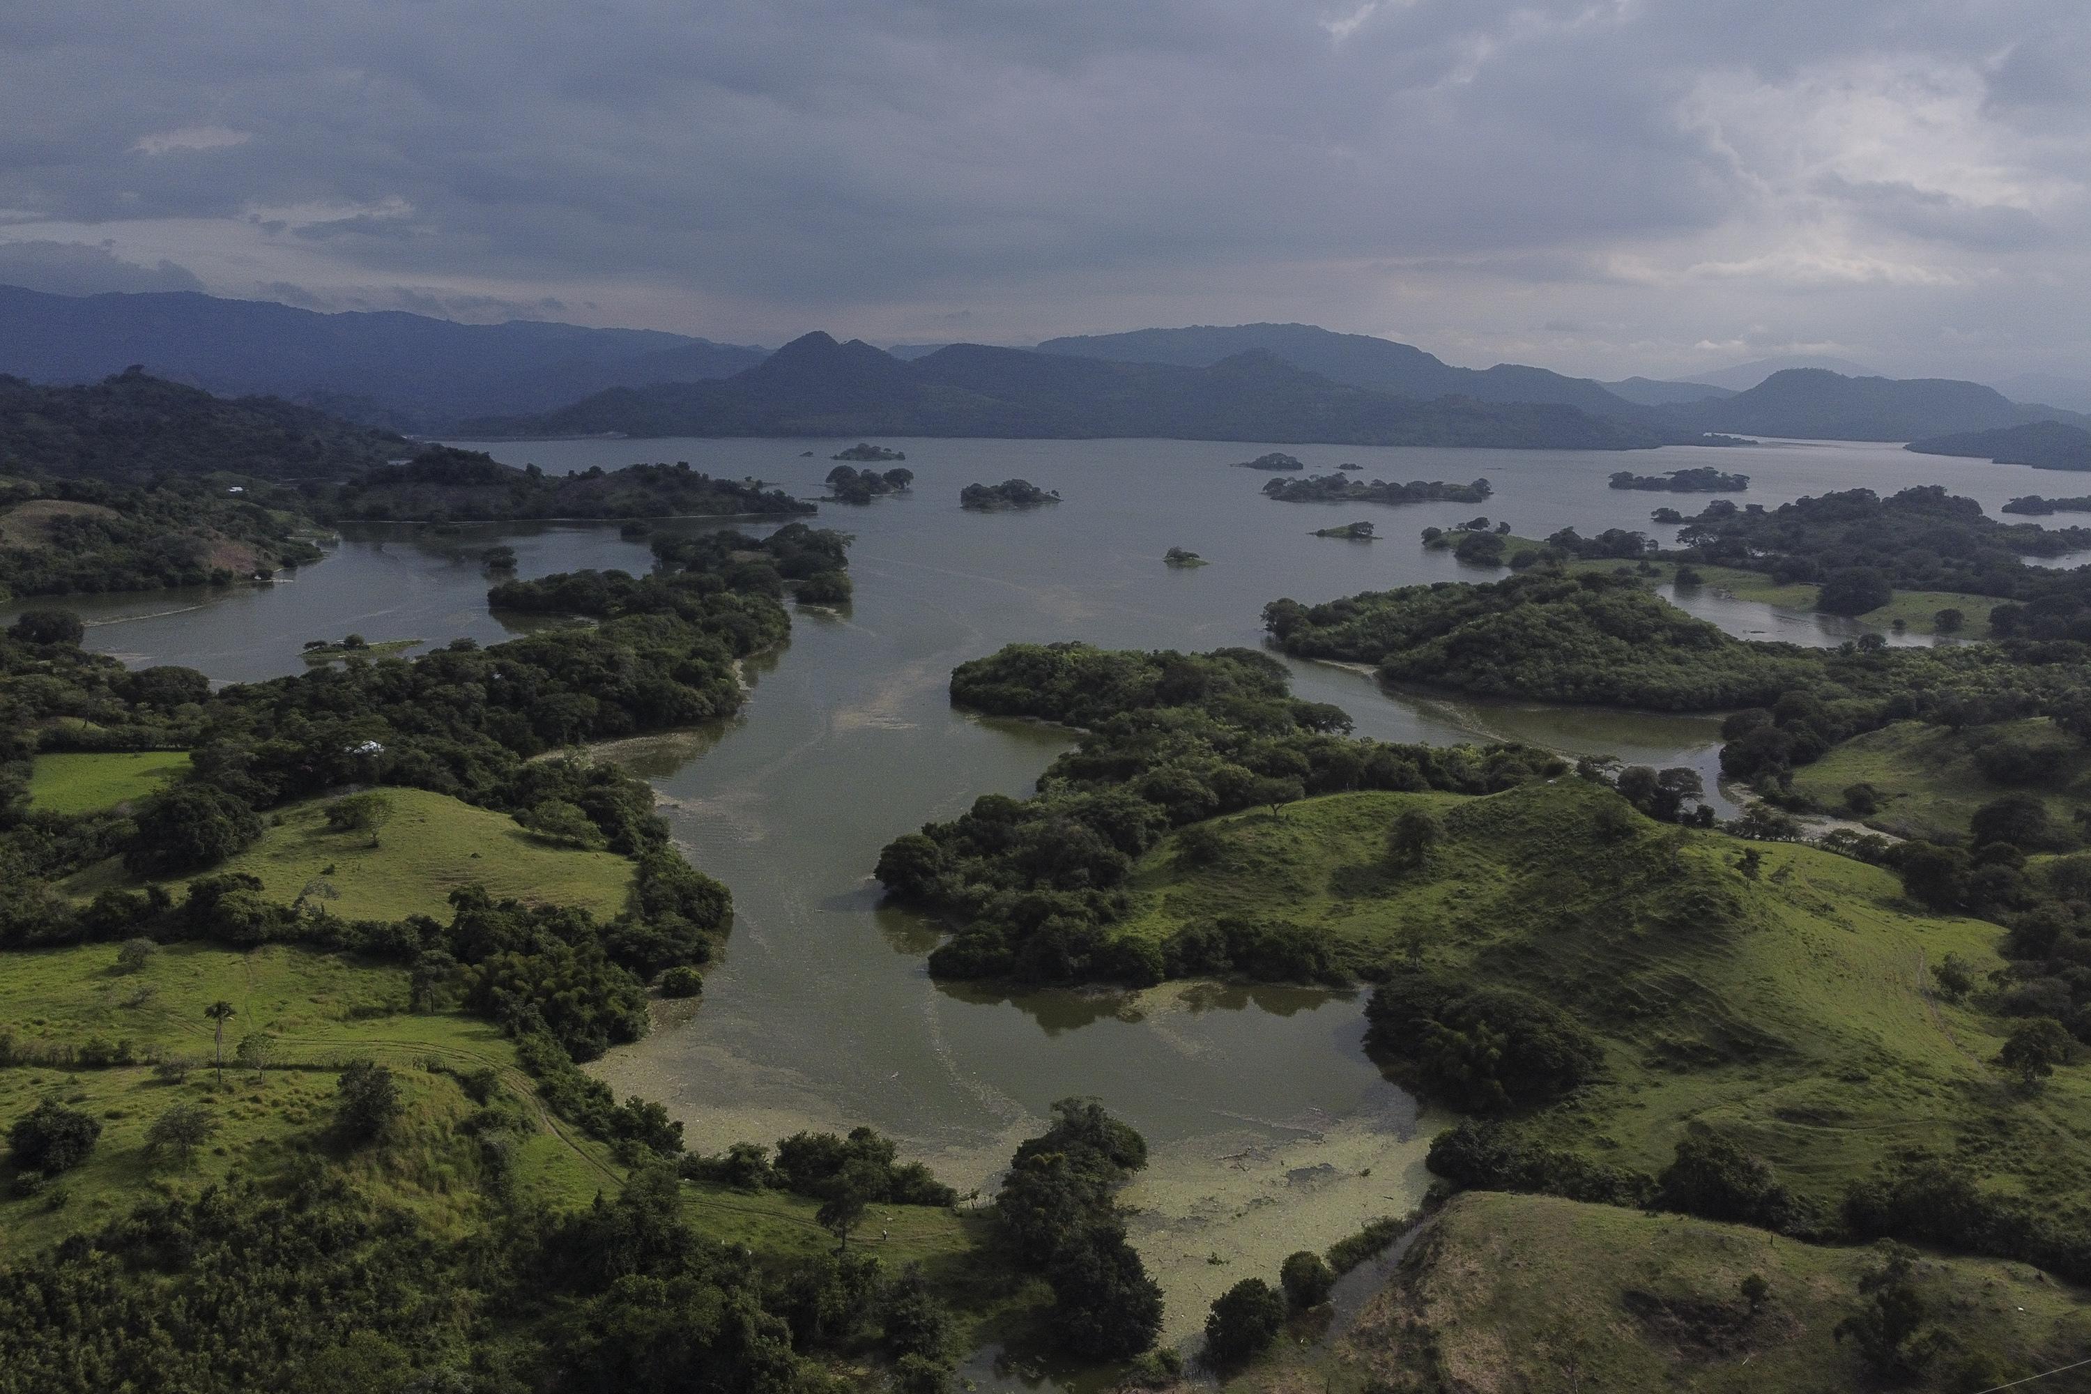
<svg viewBox="0 0 2091 1394">
<path fill-rule="evenodd" d="M 207 1187 L 0 1269 L 0 1371 L 40 1394 L 799 1394 L 838 1358 L 880 1358 L 924 1394 L 949 1377 L 949 1317 L 920 1271 L 757 1258 L 684 1204 L 650 1166 L 615 1198 L 512 1208 L 458 1244 L 332 1168 L 284 1195 Z"/>
</svg>

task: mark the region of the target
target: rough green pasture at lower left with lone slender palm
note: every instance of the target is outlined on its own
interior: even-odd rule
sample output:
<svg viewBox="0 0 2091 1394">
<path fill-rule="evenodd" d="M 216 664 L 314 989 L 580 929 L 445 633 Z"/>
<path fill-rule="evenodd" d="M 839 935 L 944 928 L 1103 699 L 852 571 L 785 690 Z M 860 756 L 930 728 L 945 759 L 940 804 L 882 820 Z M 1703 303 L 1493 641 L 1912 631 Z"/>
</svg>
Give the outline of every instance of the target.
<svg viewBox="0 0 2091 1394">
<path fill-rule="evenodd" d="M 17 1195 L 13 1168 L 0 1164 L 0 1258 L 92 1229 L 169 1185 L 194 1189 L 232 1170 L 268 1179 L 305 1156 L 343 1162 L 445 1229 L 468 1221 L 481 1179 L 475 1143 L 456 1135 L 456 1122 L 477 1106 L 452 1076 L 424 1066 L 491 1068 L 527 1099 L 529 1076 L 489 1022 L 458 1012 L 410 1016 L 404 970 L 309 949 L 169 945 L 134 974 L 117 972 L 115 955 L 115 945 L 86 945 L 0 959 L 0 1039 L 10 1039 L 0 1055 L 19 1060 L 0 1068 L 0 1129 L 44 1097 L 102 1120 L 88 1162 L 33 1195 Z M 217 999 L 236 1012 L 226 1026 L 224 1089 L 207 1064 L 211 1022 L 203 1016 Z M 276 1037 L 261 1081 L 230 1064 L 238 1039 L 255 1030 Z M 75 1051 L 96 1041 L 138 1064 L 77 1064 Z M 188 1078 L 163 1083 L 144 1064 L 153 1058 L 192 1062 Z M 330 1135 L 335 1078 L 355 1058 L 391 1066 L 406 1089 L 406 1114 L 385 1147 L 343 1149 Z M 186 1166 L 144 1145 L 153 1120 L 178 1101 L 209 1108 L 220 1124 Z M 617 1170 L 600 1145 L 560 1126 L 565 1139 L 539 1124 L 519 1149 L 519 1193 L 585 1204 L 615 1185 Z M 54 1193 L 63 1195 L 56 1208 Z"/>
</svg>

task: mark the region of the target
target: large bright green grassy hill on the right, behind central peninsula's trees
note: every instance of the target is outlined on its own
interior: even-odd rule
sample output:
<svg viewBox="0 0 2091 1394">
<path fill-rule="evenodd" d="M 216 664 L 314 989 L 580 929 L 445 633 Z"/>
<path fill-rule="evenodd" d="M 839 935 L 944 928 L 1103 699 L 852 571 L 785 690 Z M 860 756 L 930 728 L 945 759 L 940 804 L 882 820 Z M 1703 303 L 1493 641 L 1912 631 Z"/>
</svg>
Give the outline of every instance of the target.
<svg viewBox="0 0 2091 1394">
<path fill-rule="evenodd" d="M 1595 817 L 1610 798 L 1562 782 L 1217 819 L 1217 863 L 1186 865 L 1181 834 L 1140 863 L 1123 932 L 1286 920 L 1351 966 L 1418 953 L 1533 991 L 1583 1020 L 1606 1062 L 1520 1126 L 1600 1162 L 1658 1172 L 1704 1122 L 1823 1204 L 1922 1145 L 1972 1152 L 1997 1187 L 2049 1187 L 2045 1200 L 2091 1212 L 2091 1070 L 2062 1070 L 2028 1099 L 1989 1064 L 2001 1022 L 1928 995 L 1947 953 L 1978 976 L 1997 968 L 1997 926 L 1920 913 L 1888 872 L 1811 846 L 1637 815 L 1608 842 Z M 1445 834 L 1422 869 L 1397 874 L 1382 840 L 1407 807 Z M 1746 851 L 1754 876 L 1738 865 Z"/>
</svg>

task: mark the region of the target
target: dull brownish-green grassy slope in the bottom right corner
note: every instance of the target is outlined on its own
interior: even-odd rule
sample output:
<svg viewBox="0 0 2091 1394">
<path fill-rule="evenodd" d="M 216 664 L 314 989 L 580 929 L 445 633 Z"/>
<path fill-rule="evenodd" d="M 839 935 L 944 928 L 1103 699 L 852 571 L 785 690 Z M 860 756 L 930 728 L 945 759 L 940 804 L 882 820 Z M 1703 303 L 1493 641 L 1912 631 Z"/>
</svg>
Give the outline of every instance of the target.
<svg viewBox="0 0 2091 1394">
<path fill-rule="evenodd" d="M 1878 1388 L 1838 1321 L 1859 1308 L 1867 1248 L 1539 1195 L 1468 1193 L 1418 1237 L 1355 1327 L 1280 1350 L 1230 1390 L 1702 1390 L 1846 1394 Z M 1769 1296 L 1752 1312 L 1742 1279 Z M 2085 1356 L 2091 1308 L 2024 1264 L 1926 1256 L 1915 1287 L 1961 1338 L 1917 1386 L 1984 1390 Z M 2091 1371 L 2041 1381 L 2085 1390 Z"/>
</svg>

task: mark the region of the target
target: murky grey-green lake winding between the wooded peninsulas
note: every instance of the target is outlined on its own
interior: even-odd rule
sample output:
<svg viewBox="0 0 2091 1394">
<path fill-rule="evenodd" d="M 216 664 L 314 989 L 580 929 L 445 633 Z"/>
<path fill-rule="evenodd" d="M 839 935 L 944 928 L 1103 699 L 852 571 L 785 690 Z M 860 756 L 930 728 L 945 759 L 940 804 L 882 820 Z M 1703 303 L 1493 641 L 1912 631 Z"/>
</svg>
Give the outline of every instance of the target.
<svg viewBox="0 0 2091 1394">
<path fill-rule="evenodd" d="M 473 445 L 470 441 L 458 441 Z M 1269 1277 L 1296 1248 L 1324 1248 L 1422 1193 L 1434 1120 L 1365 1060 L 1363 997 L 1305 989 L 1169 984 L 1146 993 L 1008 999 L 939 986 L 937 943 L 918 917 L 880 907 L 878 849 L 985 792 L 1029 792 L 1060 731 L 953 713 L 951 667 L 1018 640 L 1200 650 L 1261 642 L 1267 600 L 1305 602 L 1428 579 L 1489 579 L 1416 533 L 1476 512 L 1520 535 L 1648 527 L 1648 512 L 1698 497 L 1614 491 L 1618 468 L 1719 464 L 1754 477 L 1767 506 L 1802 493 L 1943 483 L 1995 512 L 2041 491 L 2041 472 L 1913 456 L 1892 445 L 1775 443 L 1637 454 L 1462 451 L 1284 445 L 1315 472 L 1345 460 L 1365 479 L 1487 477 L 1487 506 L 1301 506 L 1259 495 L 1263 472 L 1227 468 L 1271 445 L 1190 441 L 884 441 L 907 451 L 910 495 L 824 506 L 818 525 L 855 533 L 855 604 L 799 610 L 788 648 L 751 665 L 753 700 L 721 729 L 625 742 L 604 752 L 648 777 L 677 842 L 723 880 L 734 934 L 703 1005 L 669 1005 L 648 1041 L 600 1072 L 619 1093 L 663 1099 L 700 1149 L 868 1122 L 962 1191 L 987 1187 L 1048 1106 L 1096 1095 L 1148 1135 L 1154 1164 L 1127 1195 L 1135 1241 L 1169 1296 L 1169 1331 L 1246 1275 Z M 552 472 L 688 460 L 757 474 L 807 497 L 847 441 L 502 441 L 496 458 Z M 811 456 L 801 451 L 811 449 Z M 968 514 L 958 489 L 1025 477 L 1062 504 Z M 2047 481 L 2051 485 L 2051 481 Z M 1317 527 L 1372 518 L 1372 543 Z M 675 522 L 665 527 L 709 527 Z M 757 525 L 744 525 L 755 529 Z M 506 541 L 519 575 L 579 566 L 644 571 L 646 545 L 615 525 L 351 529 L 295 581 L 228 594 L 155 594 L 73 604 L 88 644 L 132 663 L 184 663 L 215 679 L 299 671 L 303 640 L 514 633 L 485 608 L 479 548 Z M 1209 566 L 1169 571 L 1181 545 Z M 1733 633 L 1838 644 L 1844 621 L 1782 614 L 1717 594 L 1683 602 Z M 1345 706 L 1357 731 L 1457 742 L 1531 740 L 1633 763 L 1694 765 L 1713 786 L 1719 723 L 1516 702 L 1382 694 L 1370 677 L 1290 665 L 1301 696 Z M 1207 1262 L 1225 1254 L 1230 1262 Z"/>
</svg>

